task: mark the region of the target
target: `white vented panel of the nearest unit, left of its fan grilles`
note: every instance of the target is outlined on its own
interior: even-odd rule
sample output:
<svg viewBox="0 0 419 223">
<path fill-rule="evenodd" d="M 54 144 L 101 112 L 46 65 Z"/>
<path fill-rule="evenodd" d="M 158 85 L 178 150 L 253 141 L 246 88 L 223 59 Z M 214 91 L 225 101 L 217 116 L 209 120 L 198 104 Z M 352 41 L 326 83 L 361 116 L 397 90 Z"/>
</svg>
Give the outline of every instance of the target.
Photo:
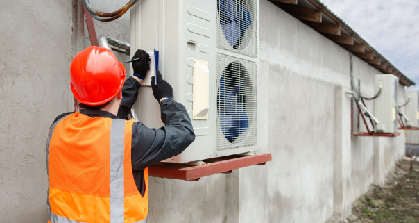
<svg viewBox="0 0 419 223">
<path fill-rule="evenodd" d="M 173 7 L 168 5 L 169 8 Z M 173 50 L 166 50 L 167 55 L 178 56 L 178 64 L 166 64 L 166 69 L 176 69 L 177 89 L 176 99 L 182 101 L 182 104 L 188 110 L 189 117 L 192 119 L 194 131 L 196 134 L 195 141 L 182 154 L 167 160 L 168 162 L 187 163 L 195 160 L 203 160 L 214 157 L 214 88 L 215 72 L 214 72 L 214 22 L 215 22 L 216 3 L 214 1 L 182 1 L 180 6 L 178 23 L 178 39 L 172 41 L 176 36 L 167 36 L 166 47 Z M 173 21 L 168 16 L 167 26 Z M 173 18 L 174 19 L 174 18 Z M 176 24 L 173 24 L 176 26 Z M 169 40 L 171 39 L 171 40 Z M 176 44 L 176 46 L 175 46 Z M 208 111 L 208 119 L 194 119 L 194 60 L 203 60 L 208 63 L 209 68 L 209 92 L 208 96 L 210 105 Z M 176 80 L 173 80 L 176 81 Z M 173 95 L 175 97 L 175 95 Z M 208 99 L 208 98 L 207 98 Z M 206 100 L 206 99 L 203 99 Z"/>
</svg>

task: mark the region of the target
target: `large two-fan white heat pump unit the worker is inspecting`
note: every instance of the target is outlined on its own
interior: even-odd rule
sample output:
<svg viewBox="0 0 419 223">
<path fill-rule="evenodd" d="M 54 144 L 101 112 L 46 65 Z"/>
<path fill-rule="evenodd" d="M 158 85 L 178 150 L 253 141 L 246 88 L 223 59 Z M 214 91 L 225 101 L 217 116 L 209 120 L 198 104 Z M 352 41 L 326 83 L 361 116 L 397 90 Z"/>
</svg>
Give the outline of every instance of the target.
<svg viewBox="0 0 419 223">
<path fill-rule="evenodd" d="M 131 9 L 131 56 L 135 49 L 159 51 L 158 68 L 194 126 L 194 143 L 167 162 L 257 150 L 259 0 L 139 1 Z M 146 126 L 160 127 L 147 85 L 134 110 Z"/>
</svg>

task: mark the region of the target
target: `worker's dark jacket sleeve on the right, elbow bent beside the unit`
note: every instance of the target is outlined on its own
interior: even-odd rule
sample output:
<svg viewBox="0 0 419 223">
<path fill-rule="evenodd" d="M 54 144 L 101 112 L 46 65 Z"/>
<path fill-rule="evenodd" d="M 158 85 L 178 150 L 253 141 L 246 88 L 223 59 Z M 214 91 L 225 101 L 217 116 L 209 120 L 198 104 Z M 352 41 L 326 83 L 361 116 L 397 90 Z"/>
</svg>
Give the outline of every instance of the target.
<svg viewBox="0 0 419 223">
<path fill-rule="evenodd" d="M 141 122 L 132 125 L 132 170 L 142 170 L 184 151 L 194 142 L 195 133 L 185 106 L 165 99 L 160 104 L 165 126 L 151 129 Z"/>
</svg>

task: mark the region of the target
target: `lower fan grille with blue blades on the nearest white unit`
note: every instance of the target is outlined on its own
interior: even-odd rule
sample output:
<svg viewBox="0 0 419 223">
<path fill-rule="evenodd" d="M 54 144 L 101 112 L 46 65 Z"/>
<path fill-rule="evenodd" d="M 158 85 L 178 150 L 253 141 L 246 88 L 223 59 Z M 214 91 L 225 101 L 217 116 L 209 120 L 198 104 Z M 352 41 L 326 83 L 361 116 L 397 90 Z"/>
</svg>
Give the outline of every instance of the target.
<svg viewBox="0 0 419 223">
<path fill-rule="evenodd" d="M 217 149 L 257 143 L 257 65 L 217 54 Z"/>
</svg>

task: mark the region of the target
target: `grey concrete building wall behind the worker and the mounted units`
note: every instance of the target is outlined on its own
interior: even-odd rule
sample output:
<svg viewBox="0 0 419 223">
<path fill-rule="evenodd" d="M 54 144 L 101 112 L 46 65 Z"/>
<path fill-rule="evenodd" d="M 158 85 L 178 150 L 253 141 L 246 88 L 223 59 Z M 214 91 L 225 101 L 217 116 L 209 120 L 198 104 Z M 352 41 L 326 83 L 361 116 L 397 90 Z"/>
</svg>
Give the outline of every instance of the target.
<svg viewBox="0 0 419 223">
<path fill-rule="evenodd" d="M 91 2 L 108 12 L 125 3 Z M 151 178 L 151 222 L 346 217 L 404 154 L 404 134 L 350 136 L 348 51 L 269 1 L 261 0 L 260 9 L 258 142 L 273 161 L 198 182 Z M 129 15 L 95 21 L 97 35 L 128 42 Z M 0 25 L 0 222 L 46 222 L 46 132 L 56 115 L 73 109 L 68 70 L 72 56 L 89 46 L 87 28 L 76 1 L 3 3 L 0 17 L 6 21 Z M 375 93 L 377 69 L 353 57 L 353 74 L 363 94 Z M 373 102 L 367 106 L 373 111 Z M 366 131 L 356 119 L 354 130 Z"/>
</svg>

